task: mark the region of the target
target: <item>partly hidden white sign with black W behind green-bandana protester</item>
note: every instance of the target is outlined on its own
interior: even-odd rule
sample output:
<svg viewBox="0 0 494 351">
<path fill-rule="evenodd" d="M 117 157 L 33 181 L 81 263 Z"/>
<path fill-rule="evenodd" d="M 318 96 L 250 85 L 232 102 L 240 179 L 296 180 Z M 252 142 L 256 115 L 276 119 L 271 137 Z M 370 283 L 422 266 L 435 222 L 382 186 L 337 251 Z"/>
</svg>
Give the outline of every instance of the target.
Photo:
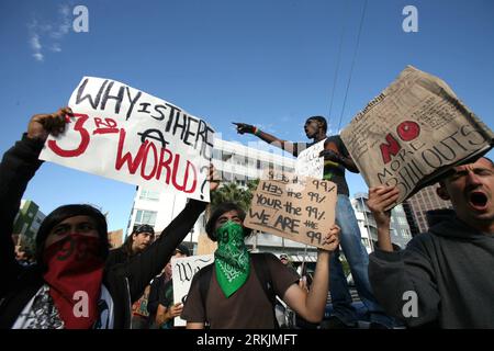
<svg viewBox="0 0 494 351">
<path fill-rule="evenodd" d="M 184 258 L 171 258 L 171 271 L 173 283 L 173 302 L 184 303 L 189 294 L 192 278 L 203 267 L 214 262 L 214 254 L 190 256 Z M 176 327 L 186 326 L 187 321 L 180 317 L 176 317 L 173 325 Z"/>
</svg>

